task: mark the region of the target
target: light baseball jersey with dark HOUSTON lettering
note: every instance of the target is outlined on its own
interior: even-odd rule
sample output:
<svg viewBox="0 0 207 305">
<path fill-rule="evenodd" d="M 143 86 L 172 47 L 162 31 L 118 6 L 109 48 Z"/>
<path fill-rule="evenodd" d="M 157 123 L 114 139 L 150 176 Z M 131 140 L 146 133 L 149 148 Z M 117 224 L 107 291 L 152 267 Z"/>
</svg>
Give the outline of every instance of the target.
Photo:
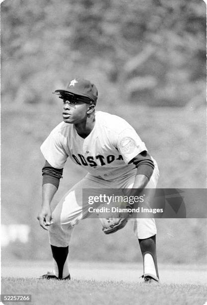
<svg viewBox="0 0 207 305">
<path fill-rule="evenodd" d="M 45 159 L 63 168 L 68 157 L 90 174 L 111 180 L 135 168 L 128 164 L 138 153 L 147 151 L 134 128 L 124 119 L 95 112 L 95 125 L 81 138 L 73 124 L 61 122 L 41 146 Z"/>
</svg>

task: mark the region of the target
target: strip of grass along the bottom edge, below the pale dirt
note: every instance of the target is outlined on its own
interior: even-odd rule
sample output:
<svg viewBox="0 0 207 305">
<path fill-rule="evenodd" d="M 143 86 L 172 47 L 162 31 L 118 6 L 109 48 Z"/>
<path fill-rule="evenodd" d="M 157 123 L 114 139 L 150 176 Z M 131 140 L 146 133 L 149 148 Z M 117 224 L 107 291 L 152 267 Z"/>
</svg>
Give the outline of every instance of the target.
<svg viewBox="0 0 207 305">
<path fill-rule="evenodd" d="M 31 294 L 30 304 L 38 305 L 203 305 L 207 300 L 204 285 L 154 286 L 123 281 L 2 279 L 3 294 L 16 294 L 17 291 L 21 294 Z"/>
</svg>

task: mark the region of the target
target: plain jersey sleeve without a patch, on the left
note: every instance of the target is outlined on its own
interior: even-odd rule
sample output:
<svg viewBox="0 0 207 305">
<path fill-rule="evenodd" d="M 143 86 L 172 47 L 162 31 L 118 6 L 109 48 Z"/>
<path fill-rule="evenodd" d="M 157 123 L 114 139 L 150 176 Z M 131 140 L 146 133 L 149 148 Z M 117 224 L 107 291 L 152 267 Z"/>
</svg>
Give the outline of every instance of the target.
<svg viewBox="0 0 207 305">
<path fill-rule="evenodd" d="M 40 147 L 45 159 L 55 168 L 63 168 L 68 154 L 61 143 L 61 135 L 51 133 Z"/>
</svg>

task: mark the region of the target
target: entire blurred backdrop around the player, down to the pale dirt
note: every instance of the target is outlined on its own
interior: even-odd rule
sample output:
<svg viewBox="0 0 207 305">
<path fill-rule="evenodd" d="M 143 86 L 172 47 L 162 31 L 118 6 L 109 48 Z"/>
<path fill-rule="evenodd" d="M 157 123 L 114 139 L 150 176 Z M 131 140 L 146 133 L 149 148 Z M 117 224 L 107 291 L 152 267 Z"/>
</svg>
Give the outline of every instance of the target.
<svg viewBox="0 0 207 305">
<path fill-rule="evenodd" d="M 97 110 L 138 131 L 159 164 L 159 187 L 206 187 L 204 1 L 4 0 L 0 14 L 1 221 L 31 228 L 28 243 L 2 249 L 3 260 L 51 258 L 36 220 L 39 147 L 61 121 L 52 92 L 74 77 L 96 84 Z M 69 160 L 53 206 L 84 175 Z M 159 262 L 205 262 L 205 219 L 157 219 L 157 227 Z M 131 223 L 105 236 L 96 219 L 75 228 L 70 258 L 141 261 Z"/>
</svg>

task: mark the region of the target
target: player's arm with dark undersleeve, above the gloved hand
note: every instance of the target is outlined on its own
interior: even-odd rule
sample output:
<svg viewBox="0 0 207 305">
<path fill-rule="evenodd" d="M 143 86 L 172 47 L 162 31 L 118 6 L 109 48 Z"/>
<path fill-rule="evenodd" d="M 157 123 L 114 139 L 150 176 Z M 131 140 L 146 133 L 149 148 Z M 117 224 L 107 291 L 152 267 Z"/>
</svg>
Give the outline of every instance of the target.
<svg viewBox="0 0 207 305">
<path fill-rule="evenodd" d="M 133 189 L 145 188 L 154 170 L 154 162 L 150 154 L 147 151 L 143 151 L 134 157 L 129 163 L 134 163 L 137 167 Z M 133 189 L 131 195 L 135 192 Z"/>
</svg>

